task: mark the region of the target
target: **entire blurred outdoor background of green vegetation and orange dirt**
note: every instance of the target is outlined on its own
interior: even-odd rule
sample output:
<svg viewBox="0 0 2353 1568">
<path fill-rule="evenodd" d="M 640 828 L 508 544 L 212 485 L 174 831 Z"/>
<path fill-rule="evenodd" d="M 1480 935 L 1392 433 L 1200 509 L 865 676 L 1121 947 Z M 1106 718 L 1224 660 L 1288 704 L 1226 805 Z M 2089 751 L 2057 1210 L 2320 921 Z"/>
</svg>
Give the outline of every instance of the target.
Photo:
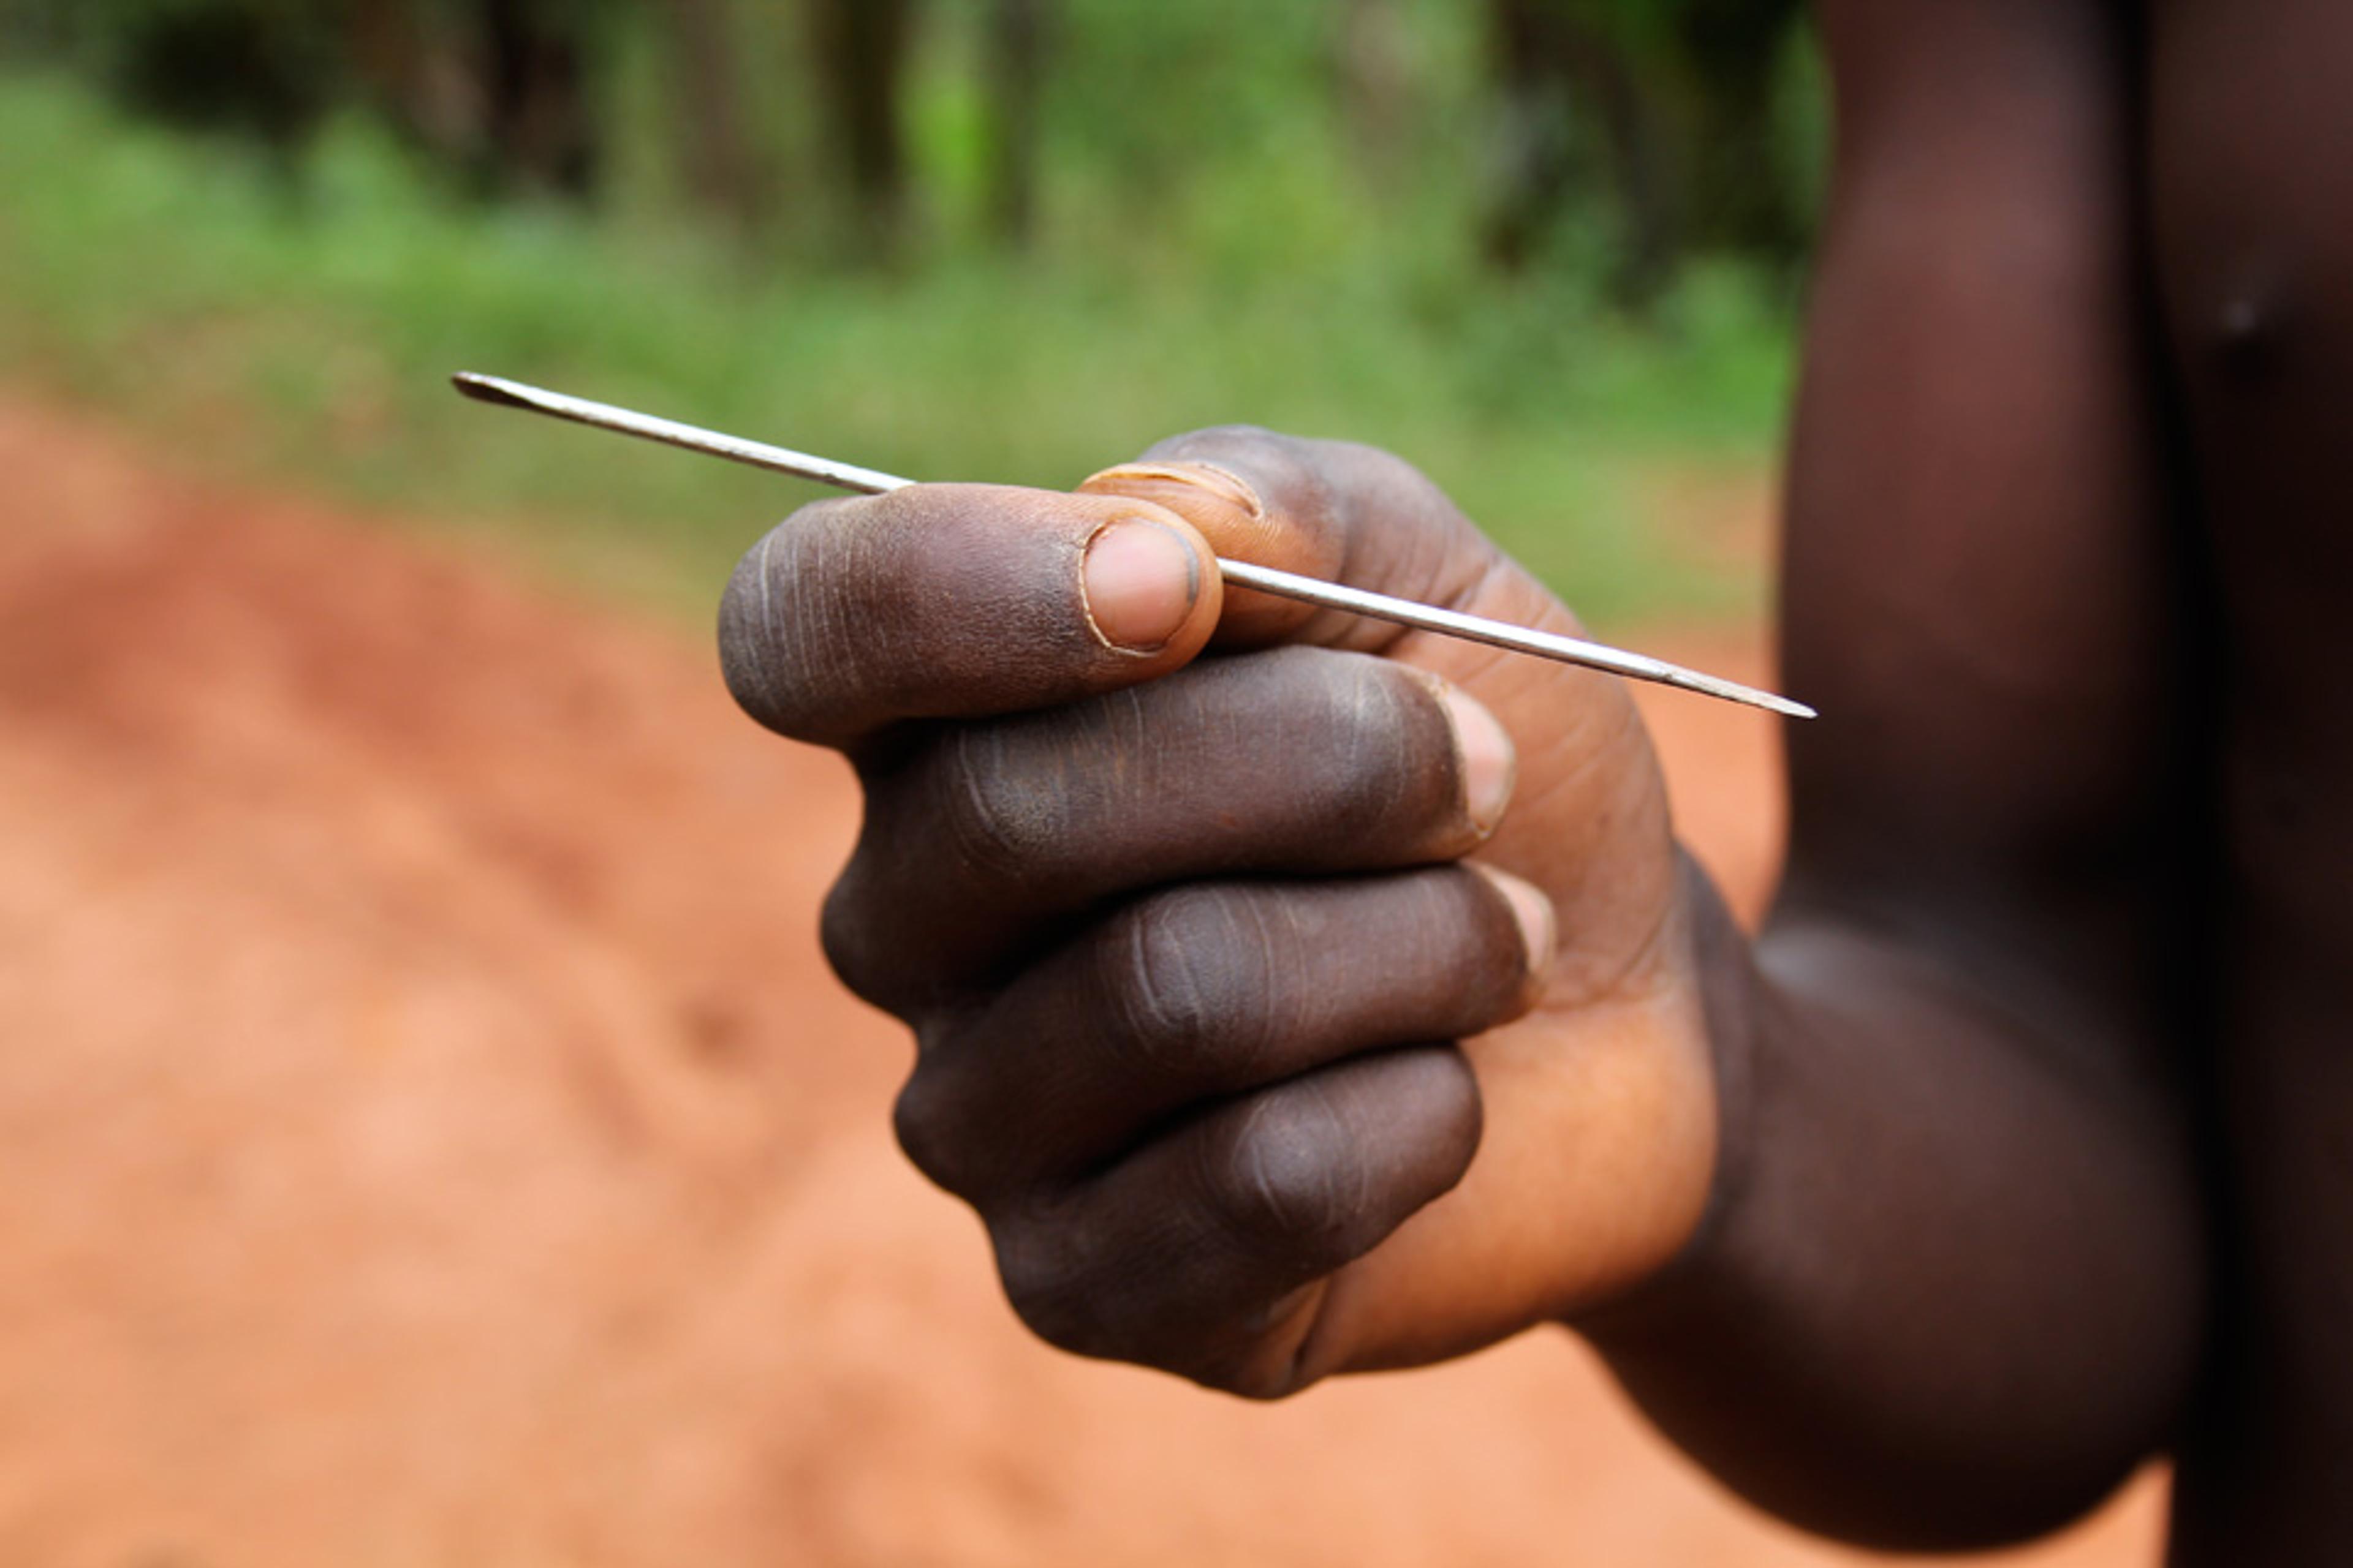
<svg viewBox="0 0 2353 1568">
<path fill-rule="evenodd" d="M 816 957 L 847 776 L 704 646 L 807 491 L 447 390 L 1367 440 L 1769 679 L 1826 139 L 1793 0 L 0 0 L 0 1559 L 1852 1561 L 1560 1335 L 1031 1345 Z M 1753 914 L 1772 729 L 1645 701 Z"/>
</svg>

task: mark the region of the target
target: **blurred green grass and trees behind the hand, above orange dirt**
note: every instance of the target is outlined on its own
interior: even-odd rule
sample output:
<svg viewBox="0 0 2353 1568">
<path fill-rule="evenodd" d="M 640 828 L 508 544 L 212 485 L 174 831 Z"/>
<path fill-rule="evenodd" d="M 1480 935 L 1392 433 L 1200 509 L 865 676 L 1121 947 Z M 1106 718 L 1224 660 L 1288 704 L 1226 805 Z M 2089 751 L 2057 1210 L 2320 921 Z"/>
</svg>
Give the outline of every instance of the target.
<svg viewBox="0 0 2353 1568">
<path fill-rule="evenodd" d="M 798 487 L 445 374 L 1035 484 L 1346 435 L 1697 609 L 1645 517 L 1772 444 L 1819 146 L 1788 0 L 0 0 L 0 374 L 696 607 Z"/>
</svg>

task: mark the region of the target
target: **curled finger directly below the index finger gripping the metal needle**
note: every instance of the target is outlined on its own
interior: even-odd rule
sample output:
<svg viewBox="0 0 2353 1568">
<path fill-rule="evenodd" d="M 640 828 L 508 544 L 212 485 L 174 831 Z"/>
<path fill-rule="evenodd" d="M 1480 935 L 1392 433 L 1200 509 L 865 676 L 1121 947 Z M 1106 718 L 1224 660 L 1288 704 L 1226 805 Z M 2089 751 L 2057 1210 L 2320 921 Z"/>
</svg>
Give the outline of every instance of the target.
<svg viewBox="0 0 2353 1568">
<path fill-rule="evenodd" d="M 826 945 L 894 1006 L 986 985 L 1120 893 L 1461 858 L 1504 816 L 1511 741 L 1421 670 L 1285 646 L 946 726 L 866 790 Z"/>
</svg>

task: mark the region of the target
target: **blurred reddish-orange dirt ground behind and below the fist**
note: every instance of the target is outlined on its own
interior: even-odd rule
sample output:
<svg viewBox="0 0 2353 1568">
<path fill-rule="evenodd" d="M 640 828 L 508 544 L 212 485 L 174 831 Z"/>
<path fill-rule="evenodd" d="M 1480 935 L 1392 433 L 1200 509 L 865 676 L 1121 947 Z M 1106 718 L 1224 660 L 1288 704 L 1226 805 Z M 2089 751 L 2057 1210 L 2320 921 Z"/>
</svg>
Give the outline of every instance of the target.
<svg viewBox="0 0 2353 1568">
<path fill-rule="evenodd" d="M 1753 910 L 1769 729 L 1652 715 Z M 816 957 L 854 813 L 689 637 L 0 395 L 0 1561 L 1852 1561 L 1565 1335 L 1278 1408 L 1033 1345 Z"/>
</svg>

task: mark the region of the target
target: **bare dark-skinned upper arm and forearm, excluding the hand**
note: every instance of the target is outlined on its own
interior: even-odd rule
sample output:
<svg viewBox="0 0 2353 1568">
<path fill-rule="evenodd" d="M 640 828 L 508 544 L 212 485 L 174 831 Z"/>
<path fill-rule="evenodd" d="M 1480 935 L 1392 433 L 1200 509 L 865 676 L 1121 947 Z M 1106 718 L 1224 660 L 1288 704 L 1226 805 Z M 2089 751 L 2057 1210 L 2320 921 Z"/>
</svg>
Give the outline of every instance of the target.
<svg viewBox="0 0 2353 1568">
<path fill-rule="evenodd" d="M 1718 933 L 1718 1208 L 1588 1324 L 1727 1481 L 1889 1544 L 2057 1523 L 2198 1354 L 2195 919 L 2129 47 L 1824 5 L 1842 101 L 1791 480 L 1793 853 Z"/>
</svg>

